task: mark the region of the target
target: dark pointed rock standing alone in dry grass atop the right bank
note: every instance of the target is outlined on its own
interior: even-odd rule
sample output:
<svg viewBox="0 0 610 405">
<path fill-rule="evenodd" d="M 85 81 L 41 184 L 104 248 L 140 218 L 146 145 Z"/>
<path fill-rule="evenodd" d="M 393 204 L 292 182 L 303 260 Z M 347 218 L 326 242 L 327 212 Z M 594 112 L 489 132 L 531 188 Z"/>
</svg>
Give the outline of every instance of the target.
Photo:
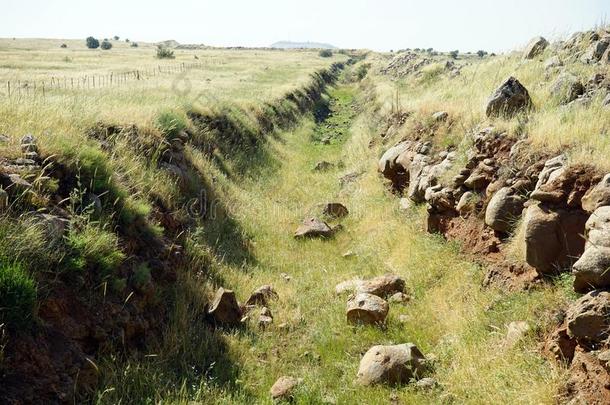
<svg viewBox="0 0 610 405">
<path fill-rule="evenodd" d="M 488 100 L 486 114 L 488 117 L 512 117 L 531 106 L 532 100 L 527 89 L 519 80 L 509 77 Z"/>
</svg>

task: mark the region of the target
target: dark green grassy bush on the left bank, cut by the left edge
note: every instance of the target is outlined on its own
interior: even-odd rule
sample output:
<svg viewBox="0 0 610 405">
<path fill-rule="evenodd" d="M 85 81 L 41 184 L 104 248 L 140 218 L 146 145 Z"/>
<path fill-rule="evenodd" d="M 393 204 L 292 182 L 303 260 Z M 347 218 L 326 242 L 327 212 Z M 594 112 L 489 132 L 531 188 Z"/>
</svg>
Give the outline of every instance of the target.
<svg viewBox="0 0 610 405">
<path fill-rule="evenodd" d="M 34 316 L 36 284 L 18 263 L 0 262 L 0 324 L 20 329 Z"/>
</svg>

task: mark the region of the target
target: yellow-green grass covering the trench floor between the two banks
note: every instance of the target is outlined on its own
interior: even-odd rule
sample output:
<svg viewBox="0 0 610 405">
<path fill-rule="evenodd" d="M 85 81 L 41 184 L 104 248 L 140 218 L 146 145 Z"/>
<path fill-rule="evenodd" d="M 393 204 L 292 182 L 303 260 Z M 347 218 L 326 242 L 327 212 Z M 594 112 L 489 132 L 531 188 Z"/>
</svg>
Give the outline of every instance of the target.
<svg viewBox="0 0 610 405">
<path fill-rule="evenodd" d="M 335 106 L 345 108 L 359 93 L 350 85 L 331 95 L 338 98 Z M 482 289 L 482 269 L 462 258 L 455 246 L 421 232 L 423 212 L 398 212 L 395 197 L 376 174 L 379 151 L 368 147 L 376 134 L 372 119 L 359 115 L 345 140 L 330 146 L 312 142 L 320 128 L 307 120 L 271 143 L 273 162 L 262 176 L 234 183 L 216 173 L 255 258 L 245 266 L 220 263 L 217 272 L 241 300 L 262 284 L 273 284 L 280 299 L 271 306 L 275 321 L 269 329 L 257 331 L 253 322 L 249 331 L 226 334 L 229 357 L 239 369 L 235 385 L 227 388 L 214 378 L 227 373 L 226 365 L 217 363 L 195 399 L 267 403 L 275 379 L 294 375 L 305 380 L 297 395 L 297 403 L 303 404 L 391 399 L 552 403 L 562 371 L 538 353 L 536 333 L 512 350 L 502 348 L 502 338 L 513 320 L 528 320 L 543 333 L 550 309 L 563 300 L 563 289 L 512 294 Z M 321 159 L 342 161 L 345 169 L 313 172 Z M 339 175 L 354 170 L 362 176 L 341 189 Z M 300 220 L 315 212 L 317 203 L 330 200 L 350 208 L 345 231 L 331 241 L 295 241 L 292 232 Z M 357 256 L 344 258 L 348 250 Z M 334 285 L 388 272 L 407 280 L 411 302 L 391 306 L 386 329 L 347 325 L 346 297 L 335 296 Z M 280 273 L 292 280 L 286 282 Z M 407 316 L 406 322 L 399 321 L 400 315 Z M 288 329 L 278 328 L 283 323 Z M 354 383 L 360 357 L 370 346 L 402 342 L 414 342 L 434 355 L 433 374 L 442 388 L 421 392 Z M 185 391 L 161 397 L 170 402 L 192 399 Z"/>
</svg>

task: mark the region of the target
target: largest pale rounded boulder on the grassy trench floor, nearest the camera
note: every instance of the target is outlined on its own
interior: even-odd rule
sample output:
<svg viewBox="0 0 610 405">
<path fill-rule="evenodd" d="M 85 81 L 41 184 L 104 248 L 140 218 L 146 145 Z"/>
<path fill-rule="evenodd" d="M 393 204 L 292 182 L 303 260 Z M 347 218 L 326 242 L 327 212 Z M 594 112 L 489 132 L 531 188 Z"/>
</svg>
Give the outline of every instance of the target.
<svg viewBox="0 0 610 405">
<path fill-rule="evenodd" d="M 358 382 L 363 385 L 403 384 L 425 371 L 425 358 L 412 343 L 373 346 L 362 357 Z"/>
</svg>

